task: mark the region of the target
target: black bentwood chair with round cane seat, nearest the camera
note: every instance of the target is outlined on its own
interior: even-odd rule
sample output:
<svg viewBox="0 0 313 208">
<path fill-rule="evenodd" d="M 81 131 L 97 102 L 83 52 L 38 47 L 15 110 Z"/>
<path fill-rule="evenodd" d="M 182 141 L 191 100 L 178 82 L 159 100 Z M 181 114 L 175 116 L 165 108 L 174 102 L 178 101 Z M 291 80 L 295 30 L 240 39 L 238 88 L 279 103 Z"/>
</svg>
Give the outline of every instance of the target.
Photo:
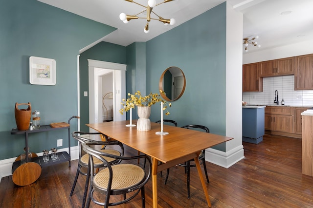
<svg viewBox="0 0 313 208">
<path fill-rule="evenodd" d="M 141 191 L 142 208 L 145 208 L 145 184 L 151 176 L 151 160 L 147 155 L 138 156 L 118 156 L 103 151 L 98 151 L 90 147 L 93 142 L 83 143 L 83 150 L 89 154 L 90 164 L 90 187 L 86 208 L 89 208 L 90 202 L 108 208 L 124 204 L 132 199 Z M 111 165 L 108 159 L 121 160 L 120 164 Z M 146 168 L 134 165 L 131 160 L 144 158 L 148 161 Z M 100 160 L 105 164 L 105 168 L 94 174 L 94 161 Z M 96 192 L 96 193 L 95 193 Z M 97 197 L 94 197 L 94 194 Z M 105 199 L 100 200 L 99 194 L 104 194 Z M 111 195 L 123 195 L 120 201 L 110 202 Z"/>
</svg>

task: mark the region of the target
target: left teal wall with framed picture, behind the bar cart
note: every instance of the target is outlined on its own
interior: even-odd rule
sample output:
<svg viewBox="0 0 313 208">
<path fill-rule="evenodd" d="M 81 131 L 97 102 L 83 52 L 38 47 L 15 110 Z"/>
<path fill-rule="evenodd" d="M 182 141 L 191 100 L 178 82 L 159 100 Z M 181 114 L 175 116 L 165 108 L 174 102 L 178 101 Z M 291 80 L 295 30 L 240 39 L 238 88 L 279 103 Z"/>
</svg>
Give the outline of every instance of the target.
<svg viewBox="0 0 313 208">
<path fill-rule="evenodd" d="M 0 160 L 18 156 L 25 146 L 23 135 L 10 134 L 16 127 L 16 102 L 30 102 L 32 110 L 41 112 L 41 124 L 44 125 L 67 122 L 77 114 L 79 50 L 114 30 L 37 0 L 1 0 Z M 30 56 L 56 60 L 55 86 L 29 83 Z M 72 119 L 71 124 L 71 131 L 76 130 L 77 120 Z M 60 148 L 66 148 L 66 130 L 31 134 L 30 150 L 51 149 L 60 138 L 63 138 Z"/>
</svg>

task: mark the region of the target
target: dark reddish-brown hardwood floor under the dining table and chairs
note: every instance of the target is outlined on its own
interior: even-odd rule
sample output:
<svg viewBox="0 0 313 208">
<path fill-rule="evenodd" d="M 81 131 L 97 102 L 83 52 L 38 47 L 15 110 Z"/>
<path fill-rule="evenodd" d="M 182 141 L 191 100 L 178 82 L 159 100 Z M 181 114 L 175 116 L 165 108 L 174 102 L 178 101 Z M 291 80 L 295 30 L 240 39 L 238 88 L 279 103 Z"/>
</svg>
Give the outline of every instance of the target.
<svg viewBox="0 0 313 208">
<path fill-rule="evenodd" d="M 245 158 L 225 169 L 206 162 L 210 183 L 207 189 L 213 208 L 313 208 L 313 177 L 301 173 L 301 139 L 265 135 L 258 145 L 243 143 Z M 126 154 L 136 154 L 126 147 Z M 81 206 L 85 177 L 79 177 L 72 197 L 77 160 L 43 168 L 33 184 L 18 187 L 12 176 L 0 182 L 1 208 L 78 208 Z M 203 170 L 202 170 L 203 171 Z M 196 168 L 191 169 L 191 198 L 187 199 L 186 175 L 173 167 L 166 185 L 158 174 L 160 208 L 207 207 Z M 146 185 L 146 207 L 152 207 L 151 180 Z M 98 208 L 91 202 L 91 208 Z M 140 194 L 116 208 L 141 207 Z"/>
</svg>

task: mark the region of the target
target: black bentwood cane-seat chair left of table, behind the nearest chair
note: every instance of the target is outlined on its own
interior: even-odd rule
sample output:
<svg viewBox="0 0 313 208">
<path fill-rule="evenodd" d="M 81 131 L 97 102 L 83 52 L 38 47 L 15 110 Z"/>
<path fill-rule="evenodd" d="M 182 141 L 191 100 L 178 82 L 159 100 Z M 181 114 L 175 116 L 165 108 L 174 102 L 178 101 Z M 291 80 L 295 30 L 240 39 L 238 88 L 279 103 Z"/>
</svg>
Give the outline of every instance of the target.
<svg viewBox="0 0 313 208">
<path fill-rule="evenodd" d="M 93 139 L 90 139 L 90 136 L 93 136 L 93 135 L 100 135 L 102 138 L 105 138 L 105 141 L 95 141 Z M 69 196 L 73 195 L 79 174 L 86 175 L 87 177 L 86 177 L 85 191 L 84 191 L 83 202 L 82 202 L 82 208 L 84 208 L 85 203 L 86 203 L 86 198 L 87 198 L 88 186 L 89 186 L 89 177 L 90 177 L 89 172 L 90 171 L 88 170 L 88 168 L 89 168 L 89 154 L 83 152 L 82 144 L 87 143 L 87 142 L 93 142 L 95 147 L 99 147 L 98 148 L 98 149 L 100 149 L 99 151 L 110 153 L 112 155 L 118 155 L 118 156 L 124 155 L 124 146 L 121 142 L 118 142 L 115 140 L 114 141 L 108 141 L 108 136 L 105 134 L 102 134 L 100 132 L 73 132 L 72 136 L 74 139 L 76 139 L 78 141 L 79 161 L 78 161 L 78 165 L 77 165 L 77 171 L 76 171 L 75 179 L 74 179 L 73 186 L 72 186 L 72 189 L 70 191 Z M 115 150 L 116 146 L 120 149 L 120 151 Z M 109 147 L 110 147 L 110 149 L 109 149 Z M 107 161 L 111 165 L 120 163 L 120 160 L 115 159 L 115 158 L 107 158 Z M 93 168 L 96 168 L 97 170 L 99 170 L 99 168 L 103 168 L 106 166 L 105 163 L 103 163 L 101 160 L 98 160 L 96 158 L 94 159 L 93 162 L 94 162 Z M 83 168 L 85 168 L 85 169 L 83 169 Z M 87 169 L 87 171 L 86 171 L 86 169 Z"/>
</svg>

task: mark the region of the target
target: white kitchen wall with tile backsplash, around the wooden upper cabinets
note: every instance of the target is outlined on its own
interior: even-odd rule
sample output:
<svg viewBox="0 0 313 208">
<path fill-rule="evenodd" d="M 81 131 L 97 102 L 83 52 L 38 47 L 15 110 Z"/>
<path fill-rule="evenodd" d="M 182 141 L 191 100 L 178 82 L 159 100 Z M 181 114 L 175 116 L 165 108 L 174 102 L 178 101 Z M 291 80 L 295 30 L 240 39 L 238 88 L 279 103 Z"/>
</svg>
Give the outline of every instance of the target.
<svg viewBox="0 0 313 208">
<path fill-rule="evenodd" d="M 245 52 L 243 64 L 255 63 L 285 57 L 313 54 L 313 40 L 285 45 L 273 49 Z M 243 101 L 252 105 L 273 104 L 275 90 L 278 91 L 279 103 L 284 98 L 285 105 L 313 106 L 313 90 L 294 90 L 294 76 L 275 76 L 263 78 L 263 92 L 244 92 Z"/>
</svg>

